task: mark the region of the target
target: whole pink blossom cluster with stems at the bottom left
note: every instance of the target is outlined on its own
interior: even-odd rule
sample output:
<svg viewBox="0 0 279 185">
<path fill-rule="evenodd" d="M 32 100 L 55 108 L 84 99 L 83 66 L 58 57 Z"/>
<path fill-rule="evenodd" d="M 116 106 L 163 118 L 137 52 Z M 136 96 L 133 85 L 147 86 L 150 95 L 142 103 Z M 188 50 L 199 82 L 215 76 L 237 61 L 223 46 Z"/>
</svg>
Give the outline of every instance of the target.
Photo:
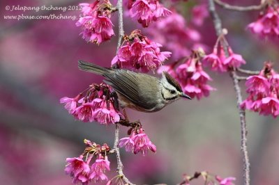
<svg viewBox="0 0 279 185">
<path fill-rule="evenodd" d="M 82 155 L 66 159 L 66 174 L 73 177 L 74 184 L 82 183 L 86 185 L 91 181 L 107 181 L 105 171 L 110 170 L 110 161 L 107 159 L 107 153 L 110 152 L 110 147 L 107 144 L 100 146 L 86 139 L 84 143 L 86 144 L 86 148 Z M 86 156 L 85 161 L 84 156 Z M 90 166 L 93 156 L 96 156 L 96 161 Z"/>
</svg>

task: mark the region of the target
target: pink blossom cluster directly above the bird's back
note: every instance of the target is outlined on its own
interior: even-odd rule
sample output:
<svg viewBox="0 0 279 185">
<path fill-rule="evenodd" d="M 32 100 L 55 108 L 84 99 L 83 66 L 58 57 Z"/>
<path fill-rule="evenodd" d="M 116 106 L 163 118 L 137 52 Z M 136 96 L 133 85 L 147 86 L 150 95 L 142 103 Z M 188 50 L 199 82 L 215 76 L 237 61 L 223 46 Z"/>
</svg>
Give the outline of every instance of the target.
<svg viewBox="0 0 279 185">
<path fill-rule="evenodd" d="M 139 30 L 126 36 L 124 43 L 112 59 L 112 65 L 118 65 L 120 68 L 141 72 L 154 71 L 172 54 L 160 51 L 161 45 L 146 38 Z"/>
</svg>

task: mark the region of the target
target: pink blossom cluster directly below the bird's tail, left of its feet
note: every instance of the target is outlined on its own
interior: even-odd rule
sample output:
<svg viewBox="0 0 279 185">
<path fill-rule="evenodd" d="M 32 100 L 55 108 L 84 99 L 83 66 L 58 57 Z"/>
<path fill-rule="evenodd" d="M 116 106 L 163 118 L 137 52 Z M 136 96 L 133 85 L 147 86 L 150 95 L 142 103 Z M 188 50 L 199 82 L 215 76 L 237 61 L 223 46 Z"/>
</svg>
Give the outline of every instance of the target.
<svg viewBox="0 0 279 185">
<path fill-rule="evenodd" d="M 110 124 L 119 122 L 121 113 L 117 111 L 114 93 L 105 83 L 93 84 L 86 91 L 85 96 L 81 93 L 77 97 L 62 97 L 61 104 L 70 114 L 83 122 L 100 122 L 100 124 Z"/>
</svg>

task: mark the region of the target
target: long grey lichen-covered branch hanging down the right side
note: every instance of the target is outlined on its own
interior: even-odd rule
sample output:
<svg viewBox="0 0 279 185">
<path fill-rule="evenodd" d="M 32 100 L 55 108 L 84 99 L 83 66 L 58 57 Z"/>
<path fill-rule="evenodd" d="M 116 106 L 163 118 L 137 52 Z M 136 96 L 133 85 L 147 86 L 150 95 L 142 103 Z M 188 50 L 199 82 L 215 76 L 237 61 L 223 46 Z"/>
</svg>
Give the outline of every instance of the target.
<svg viewBox="0 0 279 185">
<path fill-rule="evenodd" d="M 222 22 L 220 20 L 220 17 L 218 16 L 214 0 L 209 0 L 209 12 L 211 13 L 211 17 L 213 19 L 213 24 L 216 30 L 216 34 L 219 36 L 222 34 Z M 227 46 L 223 46 L 226 53 L 227 52 Z M 234 83 L 234 90 L 236 92 L 236 99 L 237 99 L 237 108 L 239 109 L 239 118 L 241 123 L 241 152 L 243 154 L 243 178 L 244 178 L 244 184 L 249 185 L 250 184 L 250 162 L 248 157 L 248 150 L 247 150 L 247 128 L 246 128 L 246 117 L 245 117 L 245 110 L 241 108 L 241 88 L 239 86 L 239 80 L 237 79 L 237 75 L 235 71 L 230 72 L 230 76 L 232 77 L 233 83 Z"/>
</svg>

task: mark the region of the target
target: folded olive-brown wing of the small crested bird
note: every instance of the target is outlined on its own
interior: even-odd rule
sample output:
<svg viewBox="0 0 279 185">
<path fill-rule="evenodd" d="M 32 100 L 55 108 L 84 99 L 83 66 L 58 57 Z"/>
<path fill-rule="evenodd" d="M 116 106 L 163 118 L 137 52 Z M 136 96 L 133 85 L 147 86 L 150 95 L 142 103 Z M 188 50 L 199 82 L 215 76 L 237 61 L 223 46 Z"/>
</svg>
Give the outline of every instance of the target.
<svg viewBox="0 0 279 185">
<path fill-rule="evenodd" d="M 112 86 L 117 93 L 120 93 L 133 104 L 148 108 L 147 105 L 141 101 L 139 95 L 139 82 L 137 73 L 128 70 L 116 70 L 115 72 L 105 73 L 105 83 Z"/>
</svg>

